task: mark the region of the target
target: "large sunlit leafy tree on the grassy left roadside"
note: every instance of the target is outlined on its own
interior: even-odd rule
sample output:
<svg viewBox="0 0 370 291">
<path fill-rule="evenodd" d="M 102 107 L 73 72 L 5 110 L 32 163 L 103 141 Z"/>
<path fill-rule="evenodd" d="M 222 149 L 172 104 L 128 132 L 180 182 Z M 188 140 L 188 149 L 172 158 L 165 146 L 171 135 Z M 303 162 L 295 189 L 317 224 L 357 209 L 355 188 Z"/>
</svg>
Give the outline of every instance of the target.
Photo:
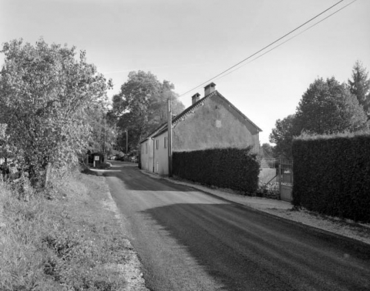
<svg viewBox="0 0 370 291">
<path fill-rule="evenodd" d="M 62 169 L 77 162 L 90 136 L 88 116 L 106 99 L 111 82 L 79 58 L 75 47 L 12 40 L 3 45 L 0 123 L 18 164 L 40 177 L 50 162 Z"/>
</svg>

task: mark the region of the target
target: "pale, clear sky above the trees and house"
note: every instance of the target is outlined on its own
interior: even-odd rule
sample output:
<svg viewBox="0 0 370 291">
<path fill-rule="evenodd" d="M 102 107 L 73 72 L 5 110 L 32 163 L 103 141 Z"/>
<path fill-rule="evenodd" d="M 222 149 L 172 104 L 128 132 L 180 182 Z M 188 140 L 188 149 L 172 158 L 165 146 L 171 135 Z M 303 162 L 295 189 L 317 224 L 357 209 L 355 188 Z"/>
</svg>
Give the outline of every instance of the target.
<svg viewBox="0 0 370 291">
<path fill-rule="evenodd" d="M 23 38 L 34 45 L 42 36 L 86 50 L 88 61 L 113 79 L 110 96 L 137 70 L 173 82 L 183 94 L 336 2 L 0 0 L 0 42 Z M 317 21 L 350 2 L 344 0 Z M 356 60 L 369 70 L 369 15 L 370 1 L 357 0 L 258 60 L 214 79 L 216 88 L 263 130 L 261 144 L 269 142 L 277 118 L 295 112 L 315 78 L 347 81 Z M 185 94 L 184 105 L 196 92 L 203 96 L 203 90 Z"/>
</svg>

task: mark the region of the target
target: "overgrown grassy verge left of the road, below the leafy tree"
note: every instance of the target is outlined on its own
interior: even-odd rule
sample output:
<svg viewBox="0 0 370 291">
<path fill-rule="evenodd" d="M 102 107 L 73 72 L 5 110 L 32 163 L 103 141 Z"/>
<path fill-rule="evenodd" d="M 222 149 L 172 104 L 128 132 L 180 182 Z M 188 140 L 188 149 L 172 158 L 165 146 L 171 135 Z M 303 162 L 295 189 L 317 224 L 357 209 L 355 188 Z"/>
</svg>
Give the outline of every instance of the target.
<svg viewBox="0 0 370 291">
<path fill-rule="evenodd" d="M 106 187 L 77 171 L 46 194 L 0 182 L 0 290 L 121 290 L 130 245 Z"/>
</svg>

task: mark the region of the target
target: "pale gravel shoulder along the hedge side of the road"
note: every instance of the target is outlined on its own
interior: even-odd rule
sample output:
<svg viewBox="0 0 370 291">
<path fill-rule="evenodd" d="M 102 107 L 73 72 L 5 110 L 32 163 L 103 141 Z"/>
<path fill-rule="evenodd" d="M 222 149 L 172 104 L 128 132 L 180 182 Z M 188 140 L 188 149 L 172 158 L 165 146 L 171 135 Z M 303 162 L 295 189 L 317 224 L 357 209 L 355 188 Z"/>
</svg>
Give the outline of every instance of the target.
<svg viewBox="0 0 370 291">
<path fill-rule="evenodd" d="M 150 175 L 156 179 L 165 179 L 175 184 L 181 184 L 189 186 L 197 190 L 201 190 L 208 194 L 215 195 L 228 201 L 233 201 L 247 207 L 254 208 L 262 212 L 267 212 L 274 216 L 279 216 L 288 220 L 293 220 L 297 223 L 309 225 L 310 227 L 316 227 L 332 233 L 336 233 L 340 236 L 347 238 L 353 238 L 370 244 L 370 224 L 356 223 L 353 220 L 341 219 L 331 216 L 325 216 L 309 212 L 308 210 L 293 210 L 293 205 L 286 201 L 280 201 L 275 199 L 267 199 L 261 197 L 248 197 L 240 194 L 236 194 L 230 189 L 214 189 L 200 184 L 195 184 L 191 181 L 186 181 L 177 178 L 160 177 L 153 173 L 148 173 L 145 170 L 140 170 L 145 175 Z"/>
</svg>

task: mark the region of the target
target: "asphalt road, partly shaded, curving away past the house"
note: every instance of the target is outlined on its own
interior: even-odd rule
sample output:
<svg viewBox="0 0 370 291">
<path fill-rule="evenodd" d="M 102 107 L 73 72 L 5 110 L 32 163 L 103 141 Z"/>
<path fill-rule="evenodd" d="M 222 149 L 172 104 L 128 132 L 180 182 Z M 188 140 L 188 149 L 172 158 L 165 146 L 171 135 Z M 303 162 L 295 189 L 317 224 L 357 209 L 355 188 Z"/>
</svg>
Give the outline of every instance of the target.
<svg viewBox="0 0 370 291">
<path fill-rule="evenodd" d="M 112 164 L 104 175 L 151 290 L 370 290 L 367 244 Z"/>
</svg>

